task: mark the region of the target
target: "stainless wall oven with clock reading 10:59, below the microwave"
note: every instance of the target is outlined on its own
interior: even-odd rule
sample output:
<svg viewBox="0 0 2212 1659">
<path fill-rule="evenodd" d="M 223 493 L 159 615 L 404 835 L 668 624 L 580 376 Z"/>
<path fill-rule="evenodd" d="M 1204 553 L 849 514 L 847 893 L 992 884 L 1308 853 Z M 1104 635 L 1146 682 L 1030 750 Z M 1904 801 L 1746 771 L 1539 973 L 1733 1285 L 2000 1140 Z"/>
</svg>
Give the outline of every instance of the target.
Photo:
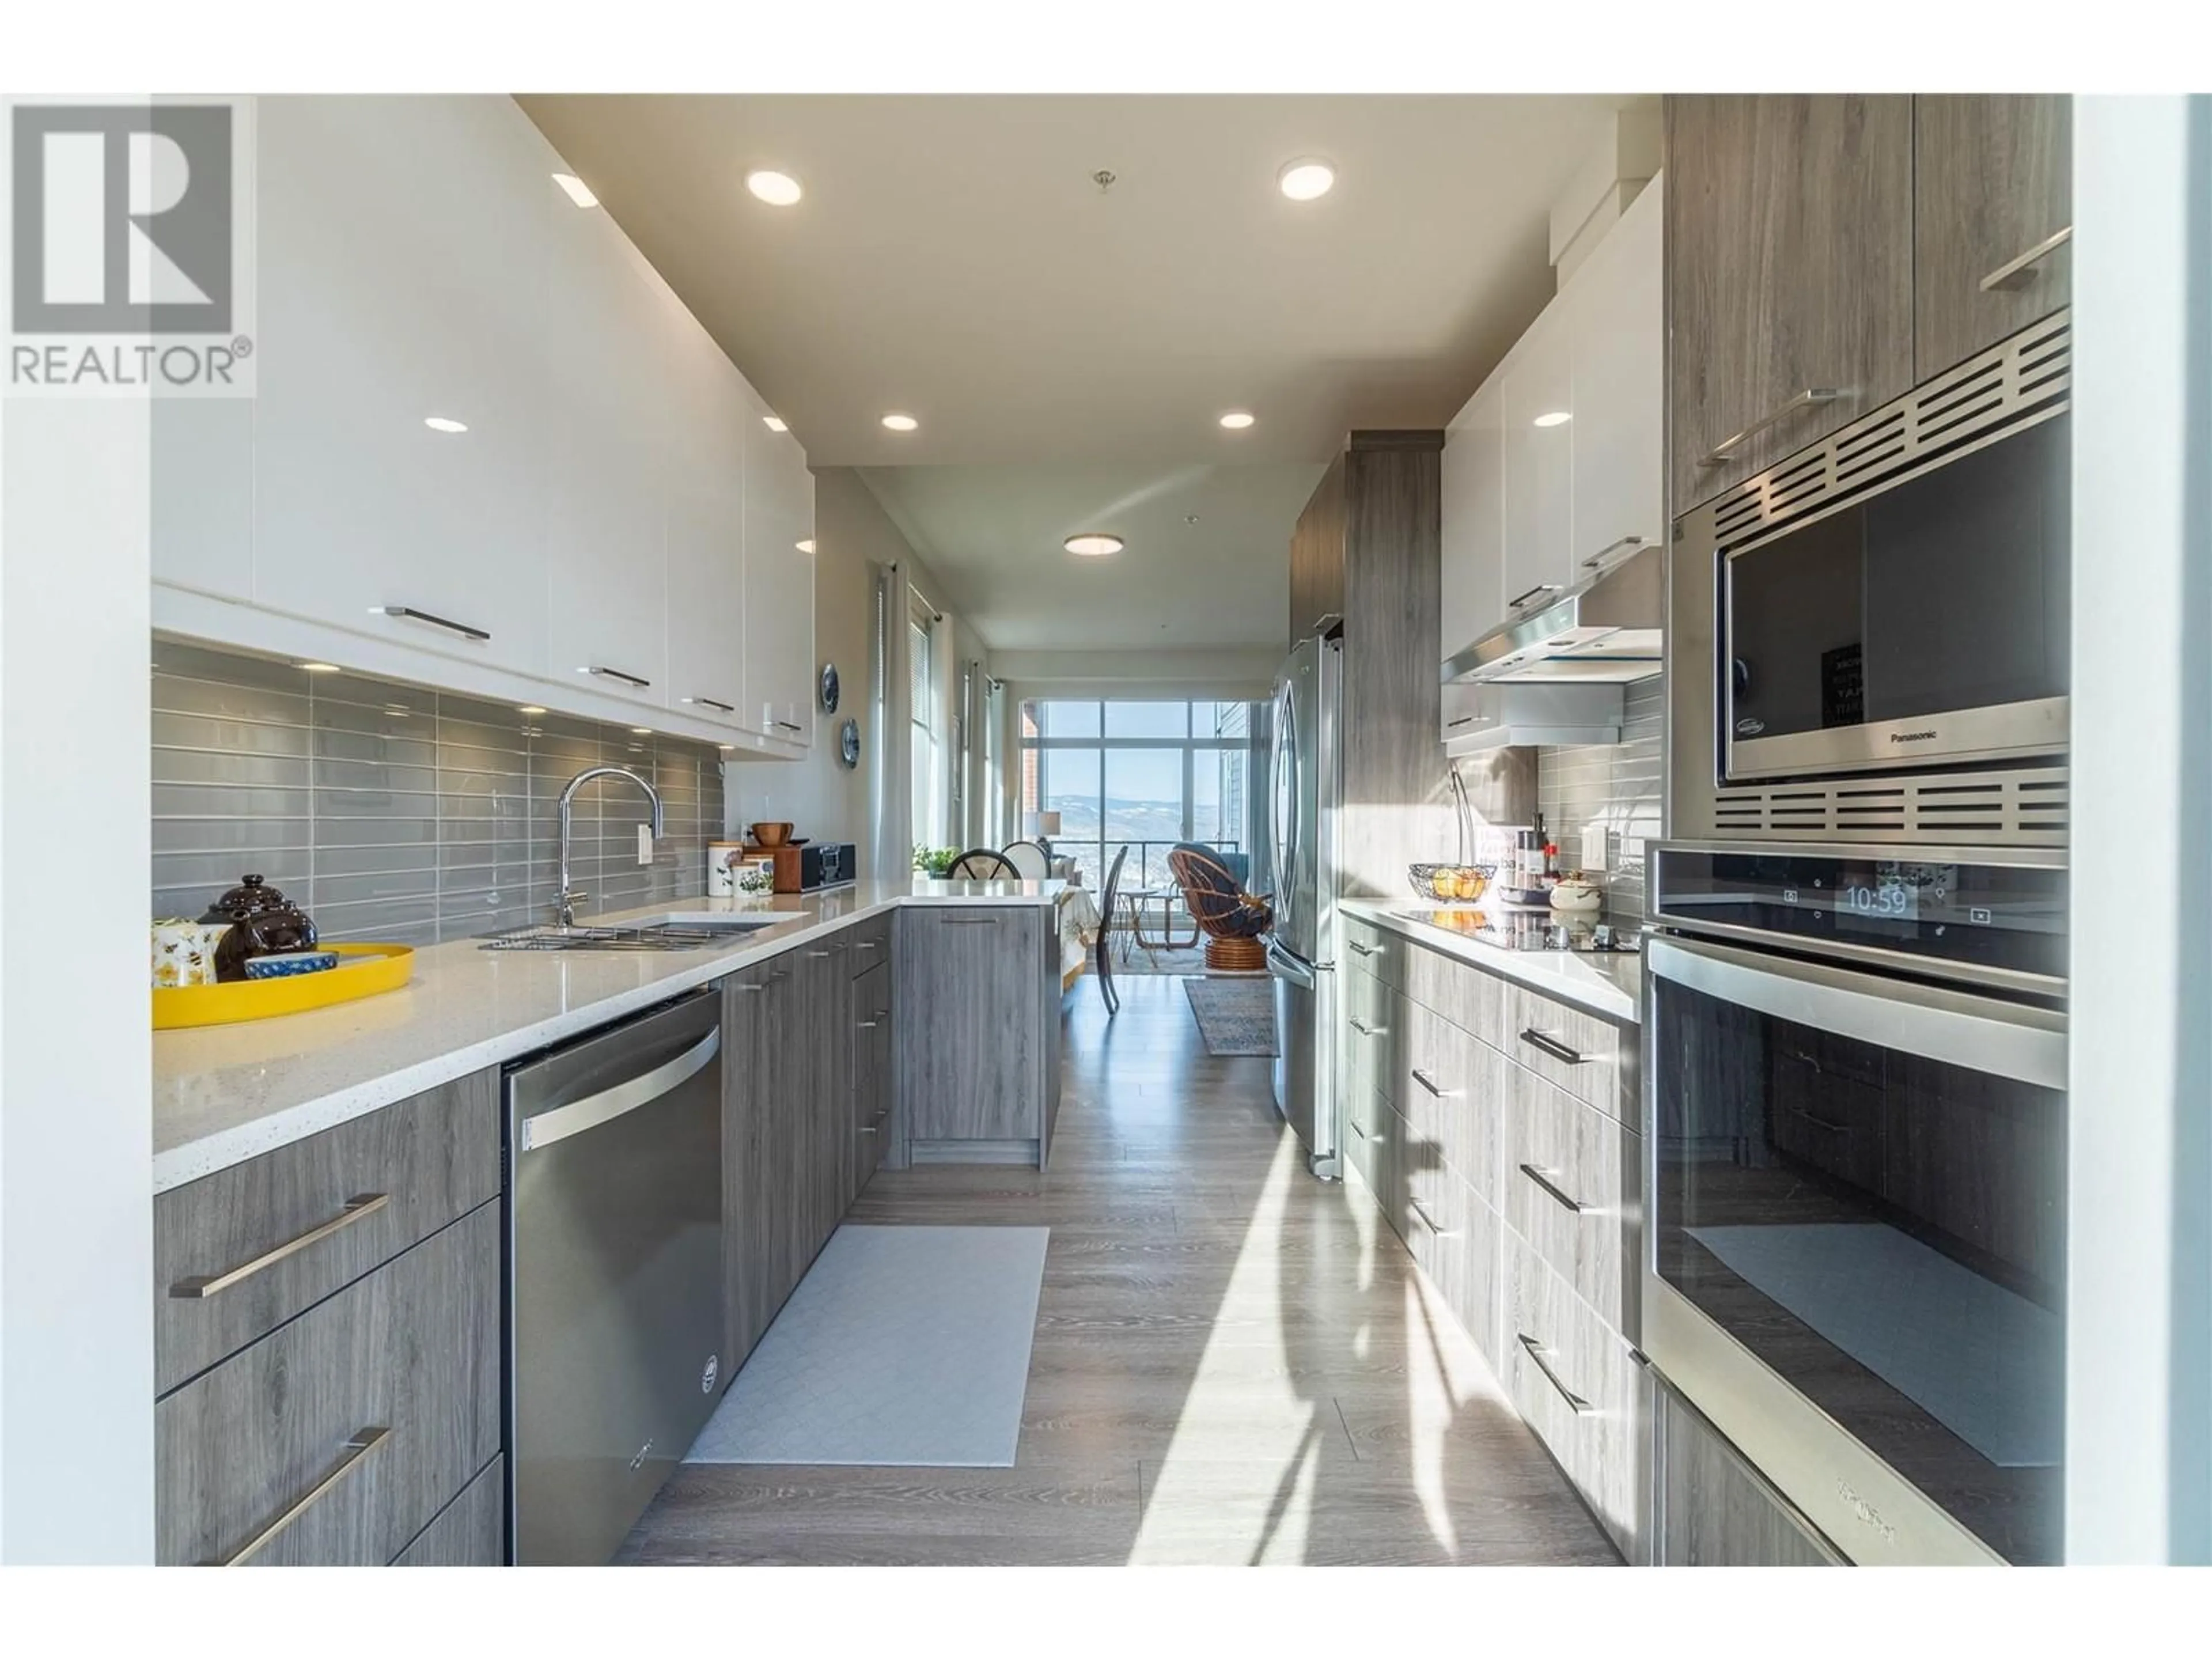
<svg viewBox="0 0 2212 1659">
<path fill-rule="evenodd" d="M 2064 902 L 2055 854 L 1652 860 L 1644 1349 L 1856 1562 L 2059 1557 Z"/>
</svg>

